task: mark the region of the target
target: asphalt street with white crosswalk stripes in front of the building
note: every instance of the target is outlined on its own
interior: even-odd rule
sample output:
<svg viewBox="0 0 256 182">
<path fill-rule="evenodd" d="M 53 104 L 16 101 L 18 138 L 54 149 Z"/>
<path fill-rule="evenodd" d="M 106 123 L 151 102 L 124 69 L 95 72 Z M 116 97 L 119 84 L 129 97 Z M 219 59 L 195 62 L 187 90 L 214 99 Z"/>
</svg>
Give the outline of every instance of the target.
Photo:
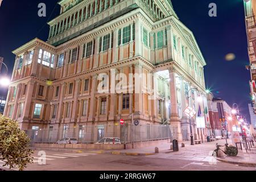
<svg viewBox="0 0 256 182">
<path fill-rule="evenodd" d="M 191 158 L 174 159 L 170 155 L 125 156 L 46 151 L 46 160 L 42 160 L 35 151 L 34 163 L 29 164 L 25 171 L 256 171 L 255 167 L 241 167 L 214 159 L 202 162 Z"/>
</svg>

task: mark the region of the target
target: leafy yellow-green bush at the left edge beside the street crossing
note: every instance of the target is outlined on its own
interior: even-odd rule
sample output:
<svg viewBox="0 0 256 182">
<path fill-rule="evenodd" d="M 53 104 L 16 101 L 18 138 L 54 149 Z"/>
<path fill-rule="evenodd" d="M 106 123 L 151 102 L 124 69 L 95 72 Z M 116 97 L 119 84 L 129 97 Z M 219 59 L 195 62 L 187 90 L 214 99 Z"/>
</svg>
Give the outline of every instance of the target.
<svg viewBox="0 0 256 182">
<path fill-rule="evenodd" d="M 3 166 L 18 168 L 22 171 L 32 163 L 30 138 L 18 128 L 18 123 L 0 114 L 0 160 Z"/>
</svg>

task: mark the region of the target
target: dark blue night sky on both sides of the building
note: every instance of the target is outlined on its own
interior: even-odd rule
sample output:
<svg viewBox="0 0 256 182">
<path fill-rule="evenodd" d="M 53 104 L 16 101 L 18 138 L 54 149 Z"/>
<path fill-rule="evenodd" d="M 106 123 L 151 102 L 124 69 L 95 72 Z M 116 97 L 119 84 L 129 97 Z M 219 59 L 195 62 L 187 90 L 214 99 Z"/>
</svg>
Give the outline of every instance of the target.
<svg viewBox="0 0 256 182">
<path fill-rule="evenodd" d="M 11 51 L 35 37 L 48 38 L 46 24 L 60 13 L 59 0 L 3 0 L 0 7 L 0 56 L 4 57 L 11 75 L 15 56 Z M 47 17 L 38 16 L 38 4 L 47 6 Z M 208 15 L 209 3 L 217 4 L 217 17 Z M 205 82 L 215 97 L 236 102 L 240 112 L 249 120 L 250 73 L 242 0 L 172 0 L 180 20 L 193 31 L 207 62 Z M 226 61 L 225 55 L 234 53 L 236 59 Z M 6 96 L 7 89 L 0 89 Z"/>
</svg>

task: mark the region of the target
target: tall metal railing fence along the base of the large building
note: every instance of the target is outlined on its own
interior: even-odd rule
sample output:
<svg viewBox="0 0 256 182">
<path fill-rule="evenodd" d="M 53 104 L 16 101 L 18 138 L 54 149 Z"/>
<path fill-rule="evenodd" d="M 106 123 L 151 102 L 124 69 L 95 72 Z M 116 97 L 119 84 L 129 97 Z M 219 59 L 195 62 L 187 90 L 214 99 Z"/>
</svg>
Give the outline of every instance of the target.
<svg viewBox="0 0 256 182">
<path fill-rule="evenodd" d="M 106 137 L 119 138 L 121 143 L 177 139 L 177 129 L 163 125 L 79 125 L 72 128 L 64 125 L 58 129 L 35 128 L 26 133 L 32 143 L 56 143 L 63 138 L 76 138 L 79 143 L 97 143 Z"/>
</svg>

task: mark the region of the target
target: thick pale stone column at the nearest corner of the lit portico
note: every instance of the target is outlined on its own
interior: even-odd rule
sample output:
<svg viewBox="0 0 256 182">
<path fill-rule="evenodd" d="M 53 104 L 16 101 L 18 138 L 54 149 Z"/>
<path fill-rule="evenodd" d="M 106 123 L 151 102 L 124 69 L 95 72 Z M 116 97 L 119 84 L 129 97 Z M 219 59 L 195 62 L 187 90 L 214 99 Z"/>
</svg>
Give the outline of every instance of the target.
<svg viewBox="0 0 256 182">
<path fill-rule="evenodd" d="M 171 97 L 171 126 L 175 128 L 177 132 L 177 140 L 179 142 L 183 141 L 182 134 L 181 134 L 181 123 L 179 114 L 177 111 L 177 90 L 176 90 L 176 78 L 175 78 L 175 69 L 169 69 L 170 75 L 170 97 Z"/>
</svg>

